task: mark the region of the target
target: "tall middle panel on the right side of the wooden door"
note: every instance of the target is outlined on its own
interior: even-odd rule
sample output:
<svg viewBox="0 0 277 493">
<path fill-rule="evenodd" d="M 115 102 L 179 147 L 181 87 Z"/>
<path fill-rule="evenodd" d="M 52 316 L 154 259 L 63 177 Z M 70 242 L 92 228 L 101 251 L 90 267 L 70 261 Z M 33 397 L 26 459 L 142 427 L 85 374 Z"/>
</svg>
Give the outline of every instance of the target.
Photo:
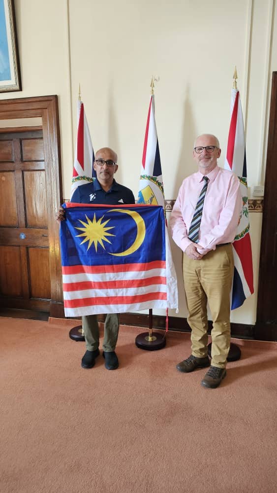
<svg viewBox="0 0 277 493">
<path fill-rule="evenodd" d="M 44 171 L 25 171 L 24 189 L 27 226 L 47 227 L 46 183 Z"/>
</svg>

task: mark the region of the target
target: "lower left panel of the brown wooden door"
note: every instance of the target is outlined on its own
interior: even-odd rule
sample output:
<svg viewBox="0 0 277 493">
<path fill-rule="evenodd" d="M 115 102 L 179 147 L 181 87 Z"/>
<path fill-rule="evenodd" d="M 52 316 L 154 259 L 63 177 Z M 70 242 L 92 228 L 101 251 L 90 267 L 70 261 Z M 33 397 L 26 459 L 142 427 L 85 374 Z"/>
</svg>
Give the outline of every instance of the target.
<svg viewBox="0 0 277 493">
<path fill-rule="evenodd" d="M 0 294 L 23 296 L 19 246 L 0 246 Z"/>
</svg>

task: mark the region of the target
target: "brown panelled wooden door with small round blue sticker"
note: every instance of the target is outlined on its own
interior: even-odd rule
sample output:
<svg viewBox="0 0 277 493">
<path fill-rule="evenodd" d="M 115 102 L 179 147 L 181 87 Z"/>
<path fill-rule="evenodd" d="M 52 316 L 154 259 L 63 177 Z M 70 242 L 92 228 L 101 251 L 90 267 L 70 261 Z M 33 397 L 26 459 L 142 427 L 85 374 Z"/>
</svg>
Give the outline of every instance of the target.
<svg viewBox="0 0 277 493">
<path fill-rule="evenodd" d="M 50 300 L 42 130 L 0 134 L 0 306 L 49 312 Z"/>
</svg>

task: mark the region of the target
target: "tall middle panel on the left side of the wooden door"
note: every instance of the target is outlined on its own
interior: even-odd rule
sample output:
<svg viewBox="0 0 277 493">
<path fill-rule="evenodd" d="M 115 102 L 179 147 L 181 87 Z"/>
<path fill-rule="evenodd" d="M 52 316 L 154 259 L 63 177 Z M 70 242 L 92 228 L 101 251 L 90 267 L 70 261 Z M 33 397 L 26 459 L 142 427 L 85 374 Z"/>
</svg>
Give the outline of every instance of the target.
<svg viewBox="0 0 277 493">
<path fill-rule="evenodd" d="M 15 175 L 0 172 L 0 226 L 18 226 Z"/>
</svg>

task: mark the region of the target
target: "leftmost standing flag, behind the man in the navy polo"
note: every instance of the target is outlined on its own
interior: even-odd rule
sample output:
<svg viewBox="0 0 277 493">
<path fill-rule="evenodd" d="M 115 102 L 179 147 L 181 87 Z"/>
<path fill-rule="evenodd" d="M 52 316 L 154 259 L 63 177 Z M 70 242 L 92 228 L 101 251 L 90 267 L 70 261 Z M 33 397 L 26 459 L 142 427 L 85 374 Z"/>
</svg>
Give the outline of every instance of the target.
<svg viewBox="0 0 277 493">
<path fill-rule="evenodd" d="M 95 176 L 92 166 L 94 161 L 94 152 L 91 134 L 86 118 L 84 103 L 79 100 L 77 105 L 77 120 L 77 141 L 70 197 L 72 197 L 73 192 L 79 185 L 84 185 L 85 183 L 92 181 L 92 177 Z"/>
</svg>

